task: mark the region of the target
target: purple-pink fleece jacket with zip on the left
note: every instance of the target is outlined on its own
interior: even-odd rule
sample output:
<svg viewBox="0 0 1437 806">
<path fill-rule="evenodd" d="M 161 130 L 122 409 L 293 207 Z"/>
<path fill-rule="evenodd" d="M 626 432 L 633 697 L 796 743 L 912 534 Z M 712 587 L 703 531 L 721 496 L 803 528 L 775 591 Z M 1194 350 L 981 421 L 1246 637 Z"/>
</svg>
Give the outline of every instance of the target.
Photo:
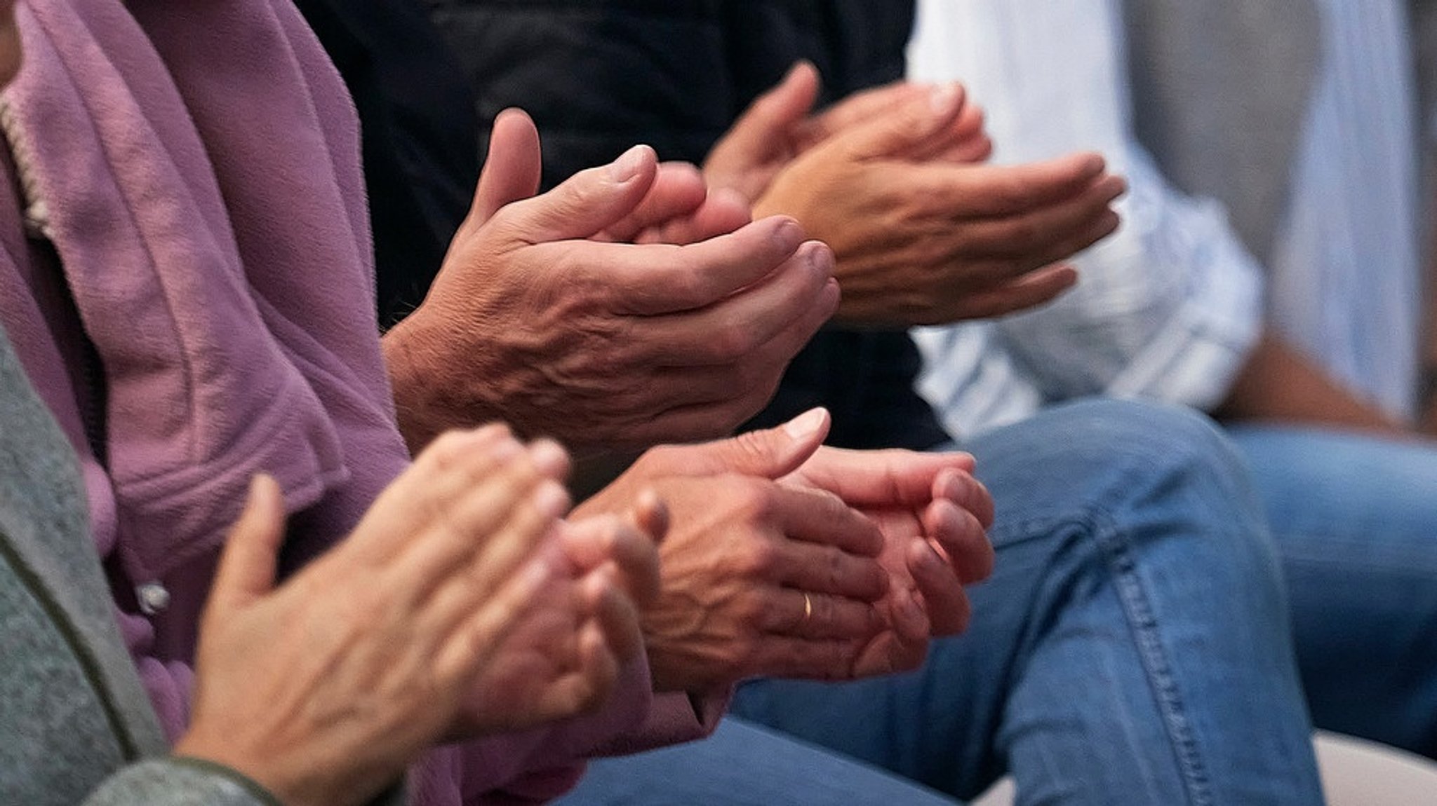
<svg viewBox="0 0 1437 806">
<path fill-rule="evenodd" d="M 6 93 L 0 320 L 80 455 L 116 618 L 171 739 L 249 479 L 287 568 L 408 456 L 374 326 L 358 122 L 289 0 L 27 0 Z M 53 251 L 52 251 L 53 247 Z M 602 713 L 430 753 L 414 803 L 540 802 L 582 759 L 700 736 L 625 670 Z"/>
</svg>

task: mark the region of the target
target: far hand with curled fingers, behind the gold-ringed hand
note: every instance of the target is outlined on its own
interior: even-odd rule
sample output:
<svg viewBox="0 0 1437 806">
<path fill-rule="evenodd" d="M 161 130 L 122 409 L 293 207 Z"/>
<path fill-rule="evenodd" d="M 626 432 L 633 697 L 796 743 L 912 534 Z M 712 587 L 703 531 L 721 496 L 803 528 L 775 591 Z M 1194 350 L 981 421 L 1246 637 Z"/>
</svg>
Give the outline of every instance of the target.
<svg viewBox="0 0 1437 806">
<path fill-rule="evenodd" d="M 882 610 L 891 630 L 864 651 L 864 665 L 904 671 L 923 663 L 930 635 L 969 624 L 964 585 L 993 572 L 993 499 L 967 453 L 819 449 L 783 483 L 821 489 L 864 512 L 884 534 Z"/>
</svg>

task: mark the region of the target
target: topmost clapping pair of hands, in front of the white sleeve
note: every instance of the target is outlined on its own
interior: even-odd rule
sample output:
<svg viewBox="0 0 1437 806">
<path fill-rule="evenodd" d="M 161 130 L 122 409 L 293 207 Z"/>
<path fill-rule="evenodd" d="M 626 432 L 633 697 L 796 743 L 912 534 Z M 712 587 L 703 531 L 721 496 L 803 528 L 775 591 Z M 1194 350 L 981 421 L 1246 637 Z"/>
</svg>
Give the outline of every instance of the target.
<svg viewBox="0 0 1437 806">
<path fill-rule="evenodd" d="M 1076 272 L 1058 261 L 1118 227 L 1111 204 L 1125 185 L 1101 156 L 977 165 L 989 152 L 981 115 L 954 85 L 884 87 L 813 119 L 806 70 L 754 103 L 706 174 L 833 248 L 838 320 L 908 327 L 1020 311 L 1069 288 Z"/>
</svg>

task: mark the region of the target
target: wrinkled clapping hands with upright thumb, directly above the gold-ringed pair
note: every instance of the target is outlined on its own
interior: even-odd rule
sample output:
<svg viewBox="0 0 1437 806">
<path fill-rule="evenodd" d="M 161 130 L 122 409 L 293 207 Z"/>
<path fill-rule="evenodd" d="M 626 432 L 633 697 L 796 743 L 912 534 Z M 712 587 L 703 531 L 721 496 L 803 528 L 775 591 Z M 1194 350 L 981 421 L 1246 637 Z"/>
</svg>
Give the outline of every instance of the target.
<svg viewBox="0 0 1437 806">
<path fill-rule="evenodd" d="M 500 414 L 581 447 L 727 433 L 836 308 L 832 254 L 789 218 L 651 242 L 746 212 L 648 148 L 525 198 L 537 175 L 533 123 L 502 115 L 444 268 L 385 336 L 411 447 Z M 605 242 L 624 237 L 647 242 Z"/>
</svg>

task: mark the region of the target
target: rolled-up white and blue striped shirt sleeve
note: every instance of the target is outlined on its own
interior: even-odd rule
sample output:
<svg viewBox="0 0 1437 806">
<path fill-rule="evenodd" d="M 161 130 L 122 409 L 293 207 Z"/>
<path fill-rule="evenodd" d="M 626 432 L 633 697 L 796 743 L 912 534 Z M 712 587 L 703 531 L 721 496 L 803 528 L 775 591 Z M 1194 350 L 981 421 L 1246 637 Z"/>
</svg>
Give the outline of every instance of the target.
<svg viewBox="0 0 1437 806">
<path fill-rule="evenodd" d="M 1118 232 L 1071 261 L 1078 287 L 992 326 L 986 346 L 1006 364 L 987 370 L 1026 379 L 1042 402 L 1111 394 L 1211 407 L 1260 334 L 1260 267 L 1226 211 L 1173 188 L 1137 143 L 1121 9 L 1048 6 L 925 0 L 910 49 L 914 77 L 969 83 L 996 161 L 1099 151 L 1129 184 Z M 974 338 L 924 336 L 925 357 L 961 361 Z M 950 370 L 943 396 L 953 406 L 964 400 L 954 390 L 980 380 Z"/>
</svg>

